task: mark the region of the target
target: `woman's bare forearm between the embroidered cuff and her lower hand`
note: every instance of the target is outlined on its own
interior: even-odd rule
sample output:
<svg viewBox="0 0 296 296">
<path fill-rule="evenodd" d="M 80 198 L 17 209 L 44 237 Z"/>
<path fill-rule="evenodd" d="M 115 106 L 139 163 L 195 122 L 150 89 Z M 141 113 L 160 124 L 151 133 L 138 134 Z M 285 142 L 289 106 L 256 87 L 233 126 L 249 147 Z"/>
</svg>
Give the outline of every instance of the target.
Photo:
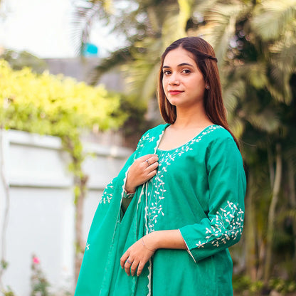
<svg viewBox="0 0 296 296">
<path fill-rule="evenodd" d="M 154 231 L 143 238 L 144 245 L 151 249 L 183 249 L 186 243 L 178 229 L 168 231 Z"/>
</svg>

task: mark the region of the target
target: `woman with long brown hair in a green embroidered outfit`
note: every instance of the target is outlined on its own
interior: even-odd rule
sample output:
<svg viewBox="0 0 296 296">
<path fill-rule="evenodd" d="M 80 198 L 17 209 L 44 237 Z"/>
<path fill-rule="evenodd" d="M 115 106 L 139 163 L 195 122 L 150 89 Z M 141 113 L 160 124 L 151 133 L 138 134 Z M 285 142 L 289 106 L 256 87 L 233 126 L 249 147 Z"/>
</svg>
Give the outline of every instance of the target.
<svg viewBox="0 0 296 296">
<path fill-rule="evenodd" d="M 228 247 L 243 230 L 245 173 L 216 62 L 198 37 L 164 51 L 166 124 L 142 136 L 105 189 L 76 296 L 233 295 Z"/>
</svg>

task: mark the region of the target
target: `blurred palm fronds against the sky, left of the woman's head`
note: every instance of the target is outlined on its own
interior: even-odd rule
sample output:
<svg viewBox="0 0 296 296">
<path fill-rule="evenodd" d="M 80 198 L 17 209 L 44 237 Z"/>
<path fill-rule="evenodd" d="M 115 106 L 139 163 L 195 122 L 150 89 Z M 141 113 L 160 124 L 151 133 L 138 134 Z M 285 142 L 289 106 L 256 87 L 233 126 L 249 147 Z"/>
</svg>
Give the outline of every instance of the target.
<svg viewBox="0 0 296 296">
<path fill-rule="evenodd" d="M 95 68 L 91 83 L 95 84 L 100 75 L 111 68 L 120 68 L 127 94 L 137 95 L 139 100 L 147 103 L 155 94 L 155 78 L 162 51 L 176 38 L 186 35 L 185 26 L 191 14 L 192 1 L 129 1 L 128 5 L 127 9 L 127 1 L 113 1 L 113 9 L 104 14 L 100 0 L 92 4 L 88 0 L 80 1 L 75 16 L 77 23 L 84 23 L 80 46 L 88 37 L 90 19 L 103 17 L 110 31 L 115 36 L 125 36 L 126 43 L 124 48 L 110 53 L 110 57 Z M 171 26 L 175 22 L 177 26 Z M 80 30 L 78 26 L 75 28 Z"/>
</svg>

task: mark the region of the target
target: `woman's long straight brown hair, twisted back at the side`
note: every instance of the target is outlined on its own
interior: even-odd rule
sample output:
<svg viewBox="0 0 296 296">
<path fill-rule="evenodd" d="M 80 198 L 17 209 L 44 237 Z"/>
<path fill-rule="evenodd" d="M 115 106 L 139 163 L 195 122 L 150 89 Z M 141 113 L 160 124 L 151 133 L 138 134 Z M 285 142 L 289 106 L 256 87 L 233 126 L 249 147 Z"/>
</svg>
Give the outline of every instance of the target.
<svg viewBox="0 0 296 296">
<path fill-rule="evenodd" d="M 209 86 L 209 89 L 205 90 L 203 97 L 203 106 L 206 110 L 206 115 L 215 125 L 221 125 L 227 129 L 238 145 L 238 140 L 229 129 L 228 122 L 226 120 L 226 109 L 223 105 L 221 82 L 215 52 L 213 51 L 211 45 L 200 37 L 185 37 L 178 39 L 177 41 L 174 41 L 174 43 L 171 43 L 171 45 L 168 46 L 162 54 L 157 88 L 159 110 L 162 114 L 162 118 L 167 123 L 174 123 L 176 120 L 176 106 L 171 105 L 169 100 L 166 99 L 164 88 L 162 86 L 162 66 L 164 65 L 164 58 L 167 53 L 178 47 L 184 48 L 186 51 L 192 53 L 196 65 L 203 75 L 206 85 Z"/>
</svg>

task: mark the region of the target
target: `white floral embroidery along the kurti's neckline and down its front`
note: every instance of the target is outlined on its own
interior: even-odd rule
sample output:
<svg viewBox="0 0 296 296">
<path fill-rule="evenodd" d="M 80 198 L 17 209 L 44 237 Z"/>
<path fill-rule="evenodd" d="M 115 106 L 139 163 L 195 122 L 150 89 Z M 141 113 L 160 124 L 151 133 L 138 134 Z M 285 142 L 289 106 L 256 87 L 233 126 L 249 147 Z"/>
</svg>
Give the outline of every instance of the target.
<svg viewBox="0 0 296 296">
<path fill-rule="evenodd" d="M 198 137 L 194 137 L 194 139 L 191 139 L 181 147 L 169 151 L 162 151 L 162 154 L 159 156 L 157 175 L 152 179 L 152 194 L 150 196 L 150 203 L 148 205 L 147 212 L 149 232 L 154 231 L 154 226 L 158 219 L 164 216 L 162 207 L 162 201 L 166 197 L 166 189 L 164 189 L 164 175 L 168 171 L 171 163 L 175 161 L 176 157 L 181 157 L 181 155 L 185 152 L 192 150 L 192 144 L 200 142 L 204 135 L 209 134 L 210 132 L 213 132 L 215 129 L 219 128 L 222 127 L 219 125 L 211 125 L 210 127 L 206 128 L 204 132 L 201 132 Z"/>
</svg>

